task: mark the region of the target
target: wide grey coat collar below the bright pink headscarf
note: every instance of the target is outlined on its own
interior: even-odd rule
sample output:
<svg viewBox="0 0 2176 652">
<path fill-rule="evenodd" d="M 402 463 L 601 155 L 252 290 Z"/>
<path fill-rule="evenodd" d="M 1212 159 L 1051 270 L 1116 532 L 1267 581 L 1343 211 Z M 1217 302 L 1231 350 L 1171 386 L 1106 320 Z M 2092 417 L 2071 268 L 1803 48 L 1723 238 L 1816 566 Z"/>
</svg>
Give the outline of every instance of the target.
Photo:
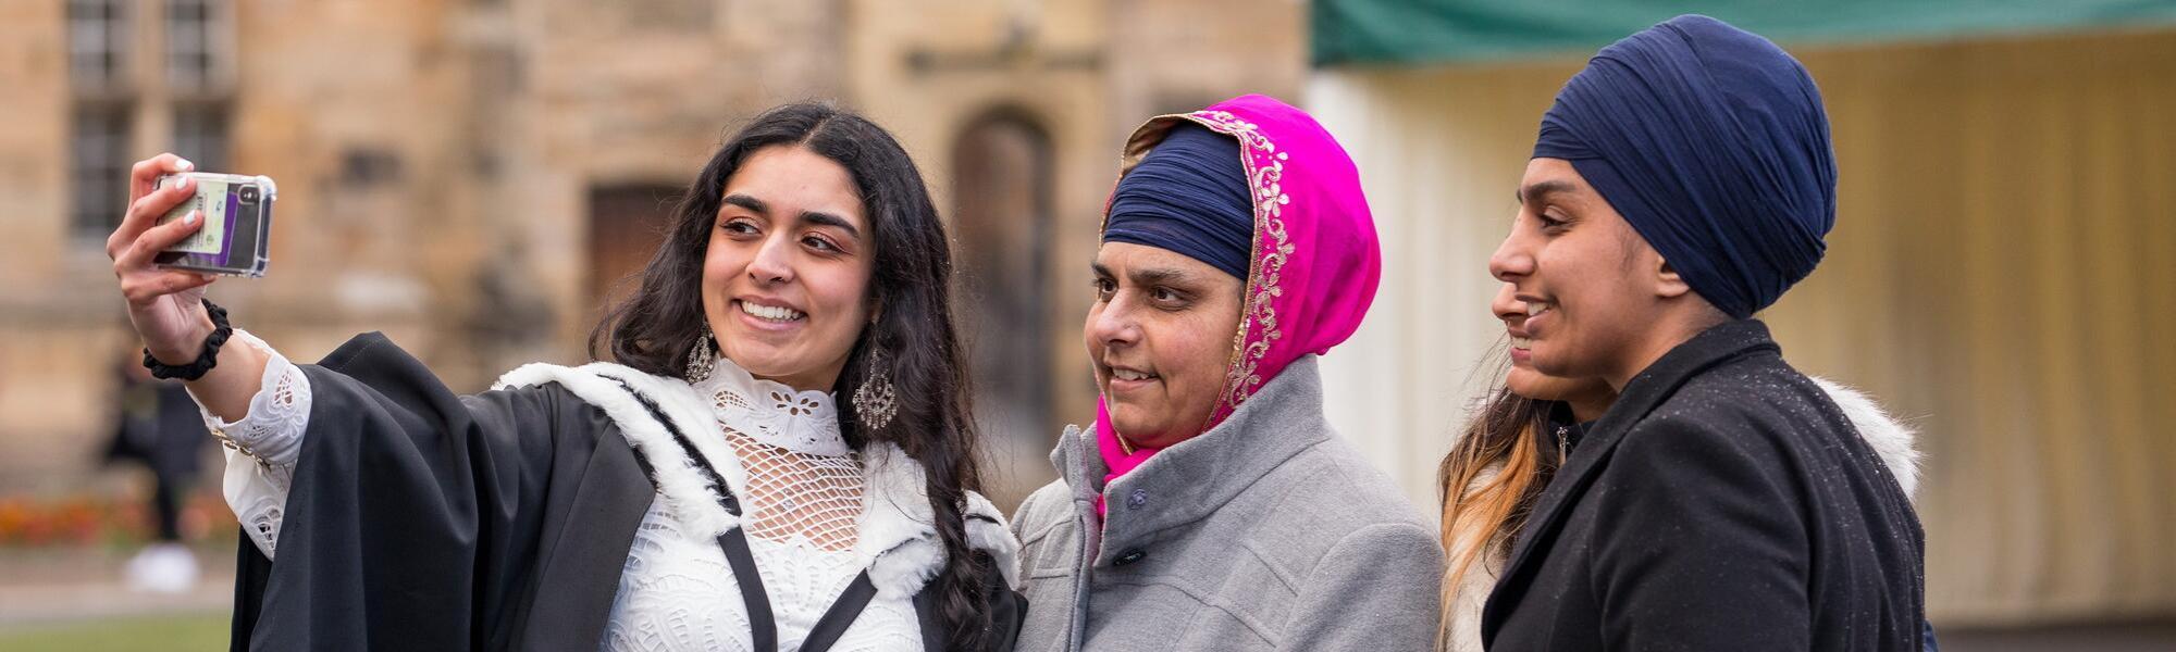
<svg viewBox="0 0 2176 652">
<path fill-rule="evenodd" d="M 1216 428 L 1179 441 L 1103 487 L 1108 467 L 1095 432 L 1066 428 L 1051 463 L 1073 487 L 1075 511 L 1097 522 L 1097 493 L 1108 496 L 1095 565 L 1110 563 L 1162 530 L 1199 522 L 1232 502 L 1299 452 L 1330 439 L 1316 356 L 1301 356 L 1262 385 Z M 1084 532 L 1095 537 L 1095 532 Z M 1110 546 L 1101 546 L 1108 541 Z"/>
</svg>

